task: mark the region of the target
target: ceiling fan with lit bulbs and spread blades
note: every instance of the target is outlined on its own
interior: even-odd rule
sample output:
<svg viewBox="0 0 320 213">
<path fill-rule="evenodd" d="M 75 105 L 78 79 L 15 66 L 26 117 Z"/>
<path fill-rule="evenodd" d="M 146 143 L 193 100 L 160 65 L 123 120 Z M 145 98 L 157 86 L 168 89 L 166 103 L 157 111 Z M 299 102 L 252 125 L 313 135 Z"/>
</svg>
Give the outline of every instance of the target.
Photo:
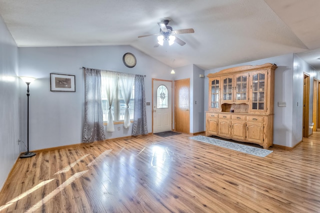
<svg viewBox="0 0 320 213">
<path fill-rule="evenodd" d="M 168 25 L 169 19 L 164 19 L 163 22 L 158 23 L 160 26 L 160 32 L 154 33 L 154 34 L 147 34 L 147 35 L 140 35 L 138 37 L 146 37 L 151 35 L 158 35 L 157 40 L 158 42 L 154 45 L 154 47 L 158 47 L 159 45 L 163 45 L 164 42 L 168 42 L 169 45 L 172 45 L 174 42 L 177 44 L 180 44 L 183 46 L 185 42 L 181 40 L 180 38 L 176 37 L 176 34 L 183 34 L 183 33 L 193 33 L 194 29 L 188 28 L 188 29 L 177 29 L 172 30 L 172 27 Z"/>
</svg>

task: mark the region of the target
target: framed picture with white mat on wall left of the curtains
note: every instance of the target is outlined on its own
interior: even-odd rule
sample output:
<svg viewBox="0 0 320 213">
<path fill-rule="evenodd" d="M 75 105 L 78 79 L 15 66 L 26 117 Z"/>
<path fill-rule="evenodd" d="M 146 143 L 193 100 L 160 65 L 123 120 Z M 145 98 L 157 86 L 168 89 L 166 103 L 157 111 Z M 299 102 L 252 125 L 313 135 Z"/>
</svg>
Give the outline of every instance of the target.
<svg viewBox="0 0 320 213">
<path fill-rule="evenodd" d="M 50 73 L 50 91 L 75 91 L 75 75 Z"/>
</svg>

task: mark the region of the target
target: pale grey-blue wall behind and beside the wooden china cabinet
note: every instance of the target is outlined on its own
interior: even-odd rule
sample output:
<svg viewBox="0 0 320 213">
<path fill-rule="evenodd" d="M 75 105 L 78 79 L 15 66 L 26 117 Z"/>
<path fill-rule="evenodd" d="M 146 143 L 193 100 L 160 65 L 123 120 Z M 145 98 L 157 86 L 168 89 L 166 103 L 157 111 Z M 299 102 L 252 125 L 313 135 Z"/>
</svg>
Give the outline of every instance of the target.
<svg viewBox="0 0 320 213">
<path fill-rule="evenodd" d="M 206 70 L 205 75 L 220 71 L 221 69 L 241 66 L 241 65 L 259 65 L 264 63 L 275 63 L 275 83 L 274 83 L 274 122 L 273 122 L 273 143 L 291 147 L 292 141 L 292 87 L 293 87 L 293 54 L 280 55 L 245 63 L 234 64 L 230 66 Z M 208 78 L 204 82 L 204 110 L 208 109 Z M 286 107 L 277 106 L 278 101 L 286 102 Z M 300 100 L 299 100 L 300 101 Z M 302 119 L 302 117 L 301 117 Z M 296 130 L 296 129 L 295 129 Z M 298 135 L 297 135 L 298 137 Z M 300 140 L 302 139 L 302 136 Z"/>
</svg>

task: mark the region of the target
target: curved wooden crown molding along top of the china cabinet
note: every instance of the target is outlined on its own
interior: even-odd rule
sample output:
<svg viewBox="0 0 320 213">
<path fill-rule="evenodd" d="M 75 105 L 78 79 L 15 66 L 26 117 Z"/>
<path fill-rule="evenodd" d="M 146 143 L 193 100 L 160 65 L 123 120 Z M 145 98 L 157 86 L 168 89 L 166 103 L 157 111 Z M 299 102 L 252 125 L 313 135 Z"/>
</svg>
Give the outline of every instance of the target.
<svg viewBox="0 0 320 213">
<path fill-rule="evenodd" d="M 261 65 L 243 65 L 243 66 L 236 66 L 236 67 L 231 67 L 231 68 L 226 68 L 222 69 L 218 72 L 214 73 L 209 73 L 207 77 L 212 77 L 212 76 L 218 76 L 218 75 L 223 75 L 227 73 L 234 73 L 234 72 L 249 72 L 249 71 L 256 71 L 260 69 L 276 69 L 276 64 L 274 63 L 264 63 Z"/>
</svg>

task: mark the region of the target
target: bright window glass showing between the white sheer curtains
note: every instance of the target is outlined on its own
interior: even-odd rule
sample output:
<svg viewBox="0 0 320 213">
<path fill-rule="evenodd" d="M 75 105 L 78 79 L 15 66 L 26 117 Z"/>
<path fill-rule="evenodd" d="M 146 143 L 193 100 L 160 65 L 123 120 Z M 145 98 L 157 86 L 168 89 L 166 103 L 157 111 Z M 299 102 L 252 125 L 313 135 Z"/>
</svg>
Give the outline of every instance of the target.
<svg viewBox="0 0 320 213">
<path fill-rule="evenodd" d="M 110 109 L 112 113 L 113 121 L 115 122 L 124 120 L 124 113 L 126 108 L 124 98 L 122 97 L 121 86 L 120 86 L 120 83 L 118 83 L 118 79 L 120 77 L 123 77 L 123 76 L 117 76 L 116 79 L 114 79 L 116 82 L 113 85 L 115 86 L 115 91 L 114 91 L 115 94 L 114 94 L 113 102 Z M 103 122 L 108 121 L 108 113 L 109 113 L 109 101 L 107 99 L 106 92 L 103 91 L 107 87 L 107 84 L 108 84 L 107 81 L 101 80 L 101 90 L 102 90 L 101 103 L 102 103 Z M 128 103 L 128 112 L 129 112 L 130 120 L 132 120 L 133 113 L 134 113 L 134 83 L 132 85 L 131 96 Z"/>
</svg>

